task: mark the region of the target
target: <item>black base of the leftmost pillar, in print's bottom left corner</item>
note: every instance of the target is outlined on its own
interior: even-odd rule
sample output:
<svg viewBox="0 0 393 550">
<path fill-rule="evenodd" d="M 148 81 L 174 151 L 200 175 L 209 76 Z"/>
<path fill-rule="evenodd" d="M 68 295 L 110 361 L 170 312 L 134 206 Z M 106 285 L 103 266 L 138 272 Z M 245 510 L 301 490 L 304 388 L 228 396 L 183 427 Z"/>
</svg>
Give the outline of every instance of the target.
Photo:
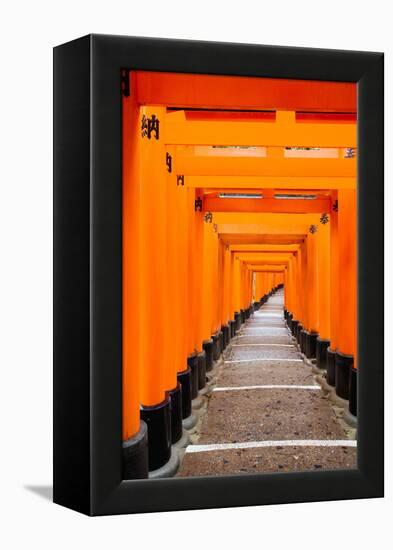
<svg viewBox="0 0 393 550">
<path fill-rule="evenodd" d="M 123 479 L 146 479 L 149 477 L 147 456 L 147 426 L 141 421 L 139 432 L 123 441 Z"/>
</svg>

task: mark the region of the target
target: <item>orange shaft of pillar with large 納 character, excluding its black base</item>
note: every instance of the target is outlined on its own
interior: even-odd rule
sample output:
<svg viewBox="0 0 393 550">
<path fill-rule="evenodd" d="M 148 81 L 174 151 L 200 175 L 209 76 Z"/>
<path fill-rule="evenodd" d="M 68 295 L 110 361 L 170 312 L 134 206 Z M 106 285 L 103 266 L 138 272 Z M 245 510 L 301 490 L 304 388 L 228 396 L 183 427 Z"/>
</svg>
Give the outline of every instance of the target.
<svg viewBox="0 0 393 550">
<path fill-rule="evenodd" d="M 165 119 L 162 107 L 142 107 L 141 118 Z M 140 134 L 141 119 L 139 122 Z M 164 132 L 163 126 L 160 132 Z M 141 404 L 165 399 L 168 358 L 167 327 L 167 198 L 165 147 L 162 141 L 141 139 L 140 185 L 140 345 Z"/>
</svg>

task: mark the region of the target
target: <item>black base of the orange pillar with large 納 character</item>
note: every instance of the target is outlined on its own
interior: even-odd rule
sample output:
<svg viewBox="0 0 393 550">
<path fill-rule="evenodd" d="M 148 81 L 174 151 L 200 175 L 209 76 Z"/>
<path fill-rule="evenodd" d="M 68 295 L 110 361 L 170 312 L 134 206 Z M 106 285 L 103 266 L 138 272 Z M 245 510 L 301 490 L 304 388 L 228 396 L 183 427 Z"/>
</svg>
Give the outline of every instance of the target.
<svg viewBox="0 0 393 550">
<path fill-rule="evenodd" d="M 149 471 L 157 470 L 171 457 L 171 403 L 165 399 L 153 407 L 141 407 L 141 418 L 147 425 Z"/>
</svg>

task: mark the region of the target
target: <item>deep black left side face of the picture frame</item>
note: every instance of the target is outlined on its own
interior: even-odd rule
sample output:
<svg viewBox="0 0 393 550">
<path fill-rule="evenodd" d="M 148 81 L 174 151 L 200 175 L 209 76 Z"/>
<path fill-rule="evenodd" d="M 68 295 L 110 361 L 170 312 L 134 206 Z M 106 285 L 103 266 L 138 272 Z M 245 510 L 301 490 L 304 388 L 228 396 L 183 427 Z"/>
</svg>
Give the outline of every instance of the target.
<svg viewBox="0 0 393 550">
<path fill-rule="evenodd" d="M 53 501 L 91 513 L 90 37 L 53 51 Z"/>
</svg>

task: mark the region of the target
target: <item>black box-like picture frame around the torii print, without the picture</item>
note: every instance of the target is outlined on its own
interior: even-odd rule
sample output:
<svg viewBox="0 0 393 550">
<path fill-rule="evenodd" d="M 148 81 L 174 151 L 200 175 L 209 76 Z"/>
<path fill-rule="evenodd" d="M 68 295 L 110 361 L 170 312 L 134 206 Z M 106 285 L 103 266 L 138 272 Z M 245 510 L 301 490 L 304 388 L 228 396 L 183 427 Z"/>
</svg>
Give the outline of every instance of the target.
<svg viewBox="0 0 393 550">
<path fill-rule="evenodd" d="M 358 468 L 122 481 L 121 68 L 356 82 Z M 54 502 L 88 515 L 383 496 L 383 54 L 89 35 L 54 49 Z"/>
</svg>

